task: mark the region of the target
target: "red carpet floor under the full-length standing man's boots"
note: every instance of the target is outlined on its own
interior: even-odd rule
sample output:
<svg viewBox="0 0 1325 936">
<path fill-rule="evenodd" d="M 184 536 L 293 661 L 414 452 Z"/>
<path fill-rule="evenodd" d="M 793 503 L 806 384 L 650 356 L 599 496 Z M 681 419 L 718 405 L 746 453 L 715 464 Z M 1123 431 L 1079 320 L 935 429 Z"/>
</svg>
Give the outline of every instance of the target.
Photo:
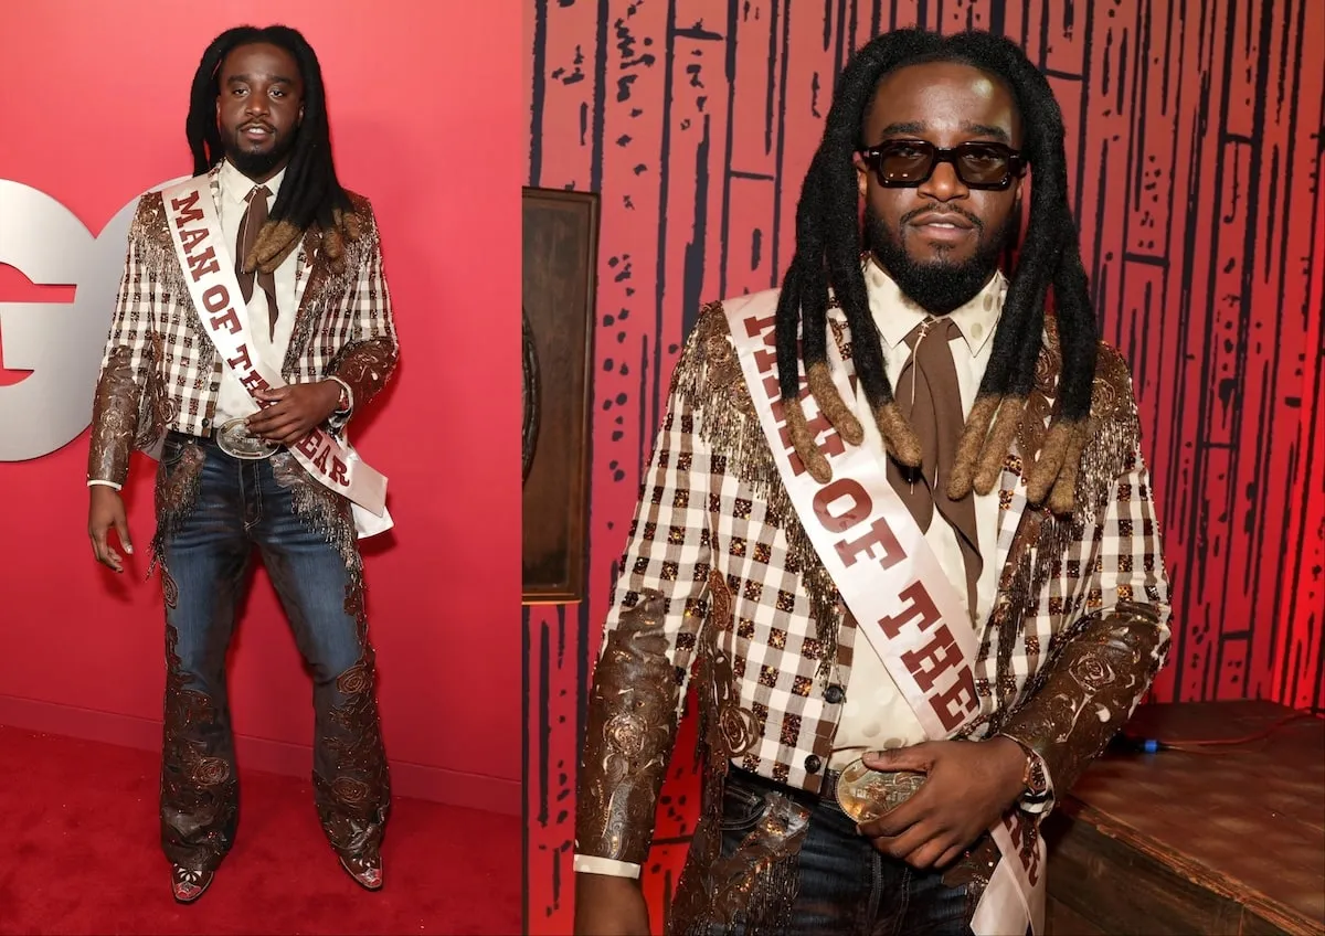
<svg viewBox="0 0 1325 936">
<path fill-rule="evenodd" d="M 0 725 L 0 933 L 521 931 L 521 826 L 396 798 L 386 887 L 360 890 L 309 781 L 241 772 L 240 827 L 211 890 L 180 907 L 158 845 L 158 756 Z"/>
</svg>

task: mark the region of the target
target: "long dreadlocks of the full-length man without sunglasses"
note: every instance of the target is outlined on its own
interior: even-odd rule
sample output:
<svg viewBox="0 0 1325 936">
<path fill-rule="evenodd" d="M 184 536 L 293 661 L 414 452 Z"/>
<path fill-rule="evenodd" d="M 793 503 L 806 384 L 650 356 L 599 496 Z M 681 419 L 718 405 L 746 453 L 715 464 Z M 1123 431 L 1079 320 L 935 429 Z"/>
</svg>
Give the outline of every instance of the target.
<svg viewBox="0 0 1325 936">
<path fill-rule="evenodd" d="M 303 119 L 295 130 L 294 151 L 286 167 L 281 192 L 272 205 L 266 224 L 258 233 L 253 252 L 244 258 L 244 269 L 272 273 L 290 254 L 310 225 L 317 224 L 322 250 L 337 273 L 344 269 L 344 238 L 358 240 L 360 218 L 354 213 L 350 196 L 335 175 L 331 160 L 331 132 L 327 124 L 326 89 L 322 66 L 313 46 L 297 29 L 289 26 L 236 26 L 212 40 L 193 74 L 188 120 L 184 131 L 193 152 L 193 175 L 201 175 L 225 155 L 216 124 L 216 97 L 220 93 L 220 68 L 225 57 L 241 45 L 269 42 L 289 52 L 299 65 L 303 78 Z"/>
</svg>

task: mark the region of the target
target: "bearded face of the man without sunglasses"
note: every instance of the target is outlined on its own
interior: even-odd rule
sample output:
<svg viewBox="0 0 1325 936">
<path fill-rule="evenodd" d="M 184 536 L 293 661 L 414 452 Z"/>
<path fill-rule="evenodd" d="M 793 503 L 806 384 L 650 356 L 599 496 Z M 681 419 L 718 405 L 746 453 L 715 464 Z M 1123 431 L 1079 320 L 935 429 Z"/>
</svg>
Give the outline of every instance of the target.
<svg viewBox="0 0 1325 936">
<path fill-rule="evenodd" d="M 241 45 L 221 62 L 216 123 L 227 158 L 244 175 L 265 181 L 294 148 L 303 119 L 303 78 L 285 49 Z"/>
</svg>

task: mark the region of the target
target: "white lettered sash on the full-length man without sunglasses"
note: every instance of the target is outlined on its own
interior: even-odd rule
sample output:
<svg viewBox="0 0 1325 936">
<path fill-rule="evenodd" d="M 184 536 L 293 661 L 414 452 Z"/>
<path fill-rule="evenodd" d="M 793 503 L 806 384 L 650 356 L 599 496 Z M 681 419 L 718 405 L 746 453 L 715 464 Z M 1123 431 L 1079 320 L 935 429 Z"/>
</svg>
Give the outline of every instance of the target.
<svg viewBox="0 0 1325 936">
<path fill-rule="evenodd" d="M 203 330 L 240 384 L 257 401 L 257 391 L 284 387 L 274 369 L 249 342 L 248 306 L 235 275 L 235 261 L 221 236 L 221 221 L 212 200 L 211 181 L 197 176 L 163 189 L 170 234 L 180 269 L 188 283 Z M 380 532 L 390 526 L 387 479 L 350 446 L 322 428 L 314 428 L 290 446 L 299 465 L 319 483 L 343 494 L 355 506 L 355 527 L 360 535 Z M 363 516 L 359 511 L 371 516 Z M 386 526 L 383 526 L 386 524 Z"/>
</svg>

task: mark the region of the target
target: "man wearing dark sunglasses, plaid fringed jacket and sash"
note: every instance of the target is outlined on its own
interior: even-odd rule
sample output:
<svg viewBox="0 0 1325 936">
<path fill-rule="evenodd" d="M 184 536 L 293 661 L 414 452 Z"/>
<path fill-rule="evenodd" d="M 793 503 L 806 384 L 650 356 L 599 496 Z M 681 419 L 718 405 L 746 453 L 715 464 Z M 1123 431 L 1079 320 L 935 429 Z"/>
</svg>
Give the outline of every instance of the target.
<svg viewBox="0 0 1325 936">
<path fill-rule="evenodd" d="M 692 663 L 704 802 L 670 932 L 1039 927 L 1037 822 L 1169 635 L 1063 139 L 987 33 L 847 66 L 782 289 L 706 307 L 673 376 L 590 698 L 579 933 L 648 932 Z"/>
</svg>

